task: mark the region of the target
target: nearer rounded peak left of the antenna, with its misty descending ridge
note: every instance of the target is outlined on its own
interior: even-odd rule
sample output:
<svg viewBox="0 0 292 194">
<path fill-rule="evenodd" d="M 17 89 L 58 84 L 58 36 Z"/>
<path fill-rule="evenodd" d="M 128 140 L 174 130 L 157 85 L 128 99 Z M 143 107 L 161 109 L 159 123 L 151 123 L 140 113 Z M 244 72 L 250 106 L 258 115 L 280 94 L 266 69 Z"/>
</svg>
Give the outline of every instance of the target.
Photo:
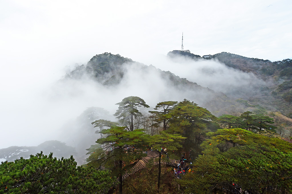
<svg viewBox="0 0 292 194">
<path fill-rule="evenodd" d="M 222 92 L 215 92 L 186 78 L 180 78 L 170 71 L 162 71 L 152 65 L 147 66 L 121 57 L 119 54 L 103 53 L 95 55 L 86 65 L 77 66 L 70 74 L 65 76 L 65 80 L 82 80 L 85 78 L 112 90 L 137 82 L 138 86 L 133 88 L 133 91 L 144 85 L 149 89 L 149 92 L 152 90 L 161 92 L 161 94 L 154 93 L 153 95 L 162 95 L 165 100 L 188 98 L 213 111 L 215 115 L 237 109 L 241 111 L 242 108 L 236 101 L 230 102 L 230 99 Z M 145 88 L 145 90 L 148 89 Z M 131 95 L 137 96 L 138 94 Z M 143 98 L 143 96 L 141 97 Z M 174 97 L 175 99 L 173 99 Z M 237 108 L 234 109 L 234 106 Z"/>
</svg>

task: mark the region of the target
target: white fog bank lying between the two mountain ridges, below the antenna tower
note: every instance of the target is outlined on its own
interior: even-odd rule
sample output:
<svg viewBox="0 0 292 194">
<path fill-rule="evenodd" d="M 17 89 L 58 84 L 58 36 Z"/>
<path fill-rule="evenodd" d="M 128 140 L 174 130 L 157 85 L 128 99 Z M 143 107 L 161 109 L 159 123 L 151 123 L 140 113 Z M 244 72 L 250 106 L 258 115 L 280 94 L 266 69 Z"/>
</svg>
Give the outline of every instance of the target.
<svg viewBox="0 0 292 194">
<path fill-rule="evenodd" d="M 254 87 L 263 87 L 268 84 L 258 79 L 253 73 L 244 73 L 230 68 L 216 59 L 194 61 L 185 57 L 171 59 L 159 56 L 152 65 L 161 70 L 171 71 L 175 75 L 185 77 L 189 81 L 216 92 L 223 92 L 227 96 L 237 96 L 234 92 L 249 93 Z"/>
</svg>

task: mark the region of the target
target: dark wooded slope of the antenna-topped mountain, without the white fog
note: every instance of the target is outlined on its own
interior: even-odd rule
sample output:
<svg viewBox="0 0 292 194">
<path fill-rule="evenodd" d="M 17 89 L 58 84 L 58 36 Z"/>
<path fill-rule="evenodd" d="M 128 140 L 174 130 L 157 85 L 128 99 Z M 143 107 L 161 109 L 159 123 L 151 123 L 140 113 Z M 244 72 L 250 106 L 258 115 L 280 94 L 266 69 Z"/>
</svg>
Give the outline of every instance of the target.
<svg viewBox="0 0 292 194">
<path fill-rule="evenodd" d="M 258 80 L 254 80 L 255 82 L 251 82 L 251 85 L 253 85 L 251 89 L 246 90 L 234 87 L 227 96 L 230 98 L 243 98 L 250 104 L 260 105 L 269 111 L 280 111 L 285 115 L 289 114 L 289 112 L 291 113 L 291 59 L 271 62 L 270 60 L 248 58 L 227 52 L 204 55 L 203 57 L 194 55 L 196 57 L 192 57 L 188 52 L 178 52 L 176 50 L 169 52 L 168 56 L 171 58 L 173 56 L 187 57 L 194 61 L 218 61 L 234 70 L 251 73 L 258 78 Z"/>
</svg>

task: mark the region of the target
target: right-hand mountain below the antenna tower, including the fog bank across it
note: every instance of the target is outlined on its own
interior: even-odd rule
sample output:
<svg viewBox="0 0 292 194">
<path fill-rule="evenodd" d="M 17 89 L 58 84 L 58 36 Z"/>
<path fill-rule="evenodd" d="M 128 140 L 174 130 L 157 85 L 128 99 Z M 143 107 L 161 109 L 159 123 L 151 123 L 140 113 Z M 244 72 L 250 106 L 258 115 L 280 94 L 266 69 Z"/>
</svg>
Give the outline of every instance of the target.
<svg viewBox="0 0 292 194">
<path fill-rule="evenodd" d="M 291 109 L 291 59 L 271 62 L 227 52 L 201 57 L 172 51 L 168 56 L 175 62 L 168 66 L 171 71 L 201 86 L 232 99 L 247 100 L 267 111 L 287 114 Z"/>
</svg>

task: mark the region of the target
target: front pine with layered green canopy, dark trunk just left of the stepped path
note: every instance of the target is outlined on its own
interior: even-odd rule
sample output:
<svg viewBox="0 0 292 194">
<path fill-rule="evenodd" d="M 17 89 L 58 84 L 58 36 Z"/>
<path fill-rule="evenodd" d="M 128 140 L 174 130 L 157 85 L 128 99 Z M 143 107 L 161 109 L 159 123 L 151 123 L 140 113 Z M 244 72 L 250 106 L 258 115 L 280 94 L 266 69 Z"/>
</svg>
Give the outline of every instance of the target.
<svg viewBox="0 0 292 194">
<path fill-rule="evenodd" d="M 96 149 L 87 149 L 90 154 L 88 165 L 105 167 L 112 172 L 113 176 L 119 177 L 119 192 L 122 193 L 122 177 L 127 169 L 132 167 L 133 161 L 142 156 L 145 146 L 149 141 L 142 129 L 128 131 L 126 127 L 112 126 L 103 129 L 100 133 L 106 137 L 100 138 L 96 143 L 101 146 Z M 131 148 L 131 149 L 130 149 Z"/>
</svg>

